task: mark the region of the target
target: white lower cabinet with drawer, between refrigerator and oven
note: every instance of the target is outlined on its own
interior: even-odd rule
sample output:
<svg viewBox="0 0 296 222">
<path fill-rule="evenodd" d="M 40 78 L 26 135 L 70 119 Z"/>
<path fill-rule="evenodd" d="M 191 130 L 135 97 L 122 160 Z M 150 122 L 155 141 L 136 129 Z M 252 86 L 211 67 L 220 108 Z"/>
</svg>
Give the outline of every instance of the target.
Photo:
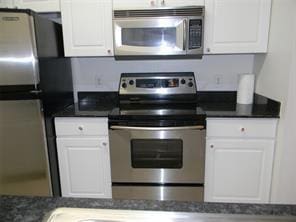
<svg viewBox="0 0 296 222">
<path fill-rule="evenodd" d="M 99 123 L 100 119 L 94 118 L 93 122 L 91 118 L 56 118 L 55 120 L 57 133 L 63 134 L 57 135 L 63 197 L 112 197 L 109 138 L 108 135 L 94 135 L 102 133 L 102 131 L 92 132 L 91 129 L 96 122 Z M 76 135 L 69 136 L 71 133 L 66 132 L 66 129 L 69 129 L 69 123 L 73 128 L 76 128 L 76 124 L 78 128 L 85 130 L 85 133 L 77 132 Z M 107 121 L 103 121 L 102 124 L 108 127 Z M 69 132 L 75 134 L 71 129 Z"/>
</svg>

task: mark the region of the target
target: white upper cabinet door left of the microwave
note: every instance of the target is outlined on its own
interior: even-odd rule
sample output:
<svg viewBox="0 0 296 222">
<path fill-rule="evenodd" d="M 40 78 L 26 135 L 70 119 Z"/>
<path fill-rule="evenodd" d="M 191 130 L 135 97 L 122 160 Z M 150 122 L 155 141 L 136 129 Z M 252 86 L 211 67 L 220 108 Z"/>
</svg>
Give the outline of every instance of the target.
<svg viewBox="0 0 296 222">
<path fill-rule="evenodd" d="M 112 0 L 61 1 L 66 56 L 112 56 Z"/>
</svg>

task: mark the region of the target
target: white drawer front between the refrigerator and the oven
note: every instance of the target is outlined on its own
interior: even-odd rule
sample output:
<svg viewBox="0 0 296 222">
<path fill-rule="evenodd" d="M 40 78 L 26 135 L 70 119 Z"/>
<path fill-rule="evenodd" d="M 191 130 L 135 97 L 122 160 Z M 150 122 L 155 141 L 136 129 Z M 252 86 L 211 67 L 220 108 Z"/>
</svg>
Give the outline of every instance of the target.
<svg viewBox="0 0 296 222">
<path fill-rule="evenodd" d="M 108 136 L 108 118 L 55 118 L 57 136 Z"/>
</svg>

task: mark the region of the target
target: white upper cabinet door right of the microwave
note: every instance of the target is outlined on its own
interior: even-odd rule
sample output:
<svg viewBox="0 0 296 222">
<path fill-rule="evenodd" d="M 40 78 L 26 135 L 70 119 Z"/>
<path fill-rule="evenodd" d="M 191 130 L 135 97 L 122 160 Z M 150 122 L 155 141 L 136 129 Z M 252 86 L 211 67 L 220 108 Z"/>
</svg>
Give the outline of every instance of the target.
<svg viewBox="0 0 296 222">
<path fill-rule="evenodd" d="M 271 0 L 206 0 L 205 53 L 267 52 Z"/>
</svg>

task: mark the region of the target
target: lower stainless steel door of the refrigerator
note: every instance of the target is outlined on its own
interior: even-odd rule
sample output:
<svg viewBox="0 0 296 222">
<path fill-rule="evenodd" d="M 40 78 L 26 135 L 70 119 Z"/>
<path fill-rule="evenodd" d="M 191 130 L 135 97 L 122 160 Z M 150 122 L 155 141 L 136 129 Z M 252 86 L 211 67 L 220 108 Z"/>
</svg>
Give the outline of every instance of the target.
<svg viewBox="0 0 296 222">
<path fill-rule="evenodd" d="M 50 196 L 39 100 L 0 101 L 0 195 Z"/>
</svg>

